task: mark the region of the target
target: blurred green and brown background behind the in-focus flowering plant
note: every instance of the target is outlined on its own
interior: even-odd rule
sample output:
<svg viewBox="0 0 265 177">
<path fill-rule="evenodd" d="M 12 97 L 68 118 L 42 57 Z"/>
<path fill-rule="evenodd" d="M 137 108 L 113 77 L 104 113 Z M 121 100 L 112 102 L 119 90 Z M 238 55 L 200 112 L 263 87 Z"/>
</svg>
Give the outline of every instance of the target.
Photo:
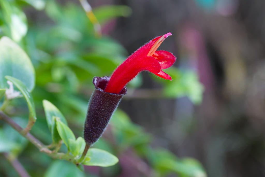
<svg viewBox="0 0 265 177">
<path fill-rule="evenodd" d="M 85 167 L 85 176 L 265 176 L 265 1 L 89 0 L 101 37 L 78 0 L 0 2 L 0 36 L 16 41 L 36 70 L 32 134 L 45 144 L 43 99 L 82 136 L 92 78 L 111 75 L 149 40 L 173 34 L 159 48 L 177 58 L 165 71 L 173 81 L 142 72 L 127 86 L 95 144 L 120 162 Z M 8 20 L 9 8 L 19 22 Z M 26 124 L 23 98 L 12 105 L 9 115 Z M 0 123 L 2 134 L 12 131 Z M 30 175 L 84 176 L 9 134 Z M 0 176 L 17 176 L 3 156 L 0 165 Z"/>
</svg>

